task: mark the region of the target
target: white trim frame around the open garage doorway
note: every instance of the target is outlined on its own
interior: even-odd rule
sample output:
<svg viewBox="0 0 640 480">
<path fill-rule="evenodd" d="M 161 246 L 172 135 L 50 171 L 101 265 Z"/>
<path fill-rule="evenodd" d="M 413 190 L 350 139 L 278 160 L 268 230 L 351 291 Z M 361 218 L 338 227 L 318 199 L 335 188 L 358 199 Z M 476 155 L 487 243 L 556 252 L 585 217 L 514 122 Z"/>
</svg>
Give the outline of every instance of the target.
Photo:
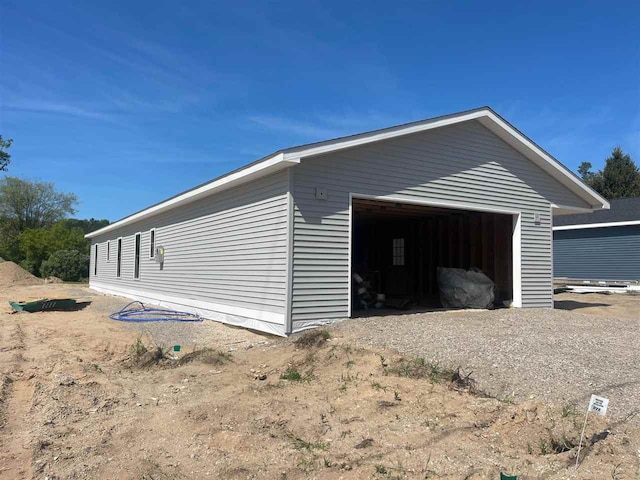
<svg viewBox="0 0 640 480">
<path fill-rule="evenodd" d="M 351 281 L 351 269 L 352 269 L 352 250 L 353 250 L 353 239 L 351 236 L 351 231 L 353 229 L 353 200 L 354 199 L 363 199 L 363 200 L 379 200 L 381 202 L 393 202 L 393 203 L 404 203 L 409 205 L 423 205 L 426 207 L 443 207 L 443 208 L 451 208 L 458 210 L 471 210 L 475 212 L 485 212 L 485 213 L 500 213 L 503 215 L 511 215 L 513 218 L 513 230 L 511 234 L 511 268 L 512 268 L 512 295 L 513 295 L 513 303 L 512 306 L 514 308 L 522 308 L 522 213 L 517 210 L 509 210 L 502 208 L 494 208 L 494 207 L 481 207 L 474 204 L 466 204 L 463 202 L 451 202 L 444 200 L 408 200 L 402 197 L 394 197 L 387 195 L 366 195 L 360 193 L 349 193 L 349 290 L 348 290 L 348 298 L 349 298 L 349 318 L 352 318 L 352 290 L 353 285 Z M 551 288 L 553 290 L 553 287 Z"/>
</svg>

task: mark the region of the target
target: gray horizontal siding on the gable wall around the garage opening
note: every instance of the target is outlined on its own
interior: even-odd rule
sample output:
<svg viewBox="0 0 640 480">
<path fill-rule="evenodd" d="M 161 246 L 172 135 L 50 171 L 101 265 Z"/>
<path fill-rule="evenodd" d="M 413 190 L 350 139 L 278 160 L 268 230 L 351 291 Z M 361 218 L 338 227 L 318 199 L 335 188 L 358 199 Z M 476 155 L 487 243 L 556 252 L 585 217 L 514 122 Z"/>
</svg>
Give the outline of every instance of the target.
<svg viewBox="0 0 640 480">
<path fill-rule="evenodd" d="M 476 121 L 303 159 L 293 175 L 294 331 L 348 316 L 350 192 L 522 212 L 523 307 L 553 305 L 551 204 L 588 208 Z"/>
</svg>

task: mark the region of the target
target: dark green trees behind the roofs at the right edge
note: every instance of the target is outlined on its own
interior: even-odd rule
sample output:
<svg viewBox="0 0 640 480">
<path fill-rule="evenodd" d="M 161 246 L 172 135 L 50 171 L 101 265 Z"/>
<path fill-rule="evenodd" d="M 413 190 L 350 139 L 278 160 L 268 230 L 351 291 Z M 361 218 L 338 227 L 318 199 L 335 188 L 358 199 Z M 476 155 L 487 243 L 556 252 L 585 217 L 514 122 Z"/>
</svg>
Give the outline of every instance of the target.
<svg viewBox="0 0 640 480">
<path fill-rule="evenodd" d="M 591 163 L 582 162 L 578 173 L 596 192 L 607 199 L 640 196 L 640 168 L 622 148 L 615 147 L 605 160 L 604 169 L 591 171 Z"/>
</svg>

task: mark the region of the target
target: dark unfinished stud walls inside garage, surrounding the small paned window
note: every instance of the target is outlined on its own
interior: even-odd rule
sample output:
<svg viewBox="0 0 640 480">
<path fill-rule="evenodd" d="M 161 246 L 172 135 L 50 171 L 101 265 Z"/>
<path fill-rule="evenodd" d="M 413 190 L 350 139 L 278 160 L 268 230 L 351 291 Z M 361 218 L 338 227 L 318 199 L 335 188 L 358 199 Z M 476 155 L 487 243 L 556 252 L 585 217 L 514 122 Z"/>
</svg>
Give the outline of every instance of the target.
<svg viewBox="0 0 640 480">
<path fill-rule="evenodd" d="M 477 267 L 496 283 L 497 301 L 513 297 L 511 216 L 354 212 L 354 272 L 379 271 L 382 293 L 433 305 L 438 301 L 437 267 Z M 405 239 L 404 268 L 392 265 L 394 238 Z"/>
</svg>

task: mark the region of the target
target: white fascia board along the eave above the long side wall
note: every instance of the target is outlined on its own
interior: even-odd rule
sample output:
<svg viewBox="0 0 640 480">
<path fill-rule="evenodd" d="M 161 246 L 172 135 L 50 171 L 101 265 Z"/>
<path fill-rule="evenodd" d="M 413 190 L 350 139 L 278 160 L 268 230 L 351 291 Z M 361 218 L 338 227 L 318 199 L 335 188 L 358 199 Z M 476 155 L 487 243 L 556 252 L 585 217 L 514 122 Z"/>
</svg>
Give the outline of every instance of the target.
<svg viewBox="0 0 640 480">
<path fill-rule="evenodd" d="M 279 170 L 282 170 L 283 168 L 291 167 L 299 162 L 299 159 L 285 160 L 284 154 L 278 153 L 276 155 L 273 155 L 272 157 L 264 159 L 259 163 L 251 165 L 235 173 L 231 173 L 230 175 L 226 175 L 218 180 L 214 180 L 213 182 L 207 183 L 193 190 L 189 190 L 188 192 L 177 195 L 173 198 L 170 198 L 169 200 L 158 203 L 157 205 L 149 207 L 138 213 L 134 213 L 133 215 L 107 225 L 100 230 L 88 233 L 85 235 L 85 238 L 93 238 L 98 235 L 102 235 L 103 233 L 110 232 L 112 230 L 115 230 L 116 228 L 138 222 L 152 215 L 157 215 L 158 213 L 164 212 L 166 210 L 171 210 L 180 205 L 185 205 L 187 203 L 199 200 L 200 198 L 221 192 L 223 190 L 226 190 L 227 188 L 235 187 L 256 178 L 275 173 Z"/>
</svg>

